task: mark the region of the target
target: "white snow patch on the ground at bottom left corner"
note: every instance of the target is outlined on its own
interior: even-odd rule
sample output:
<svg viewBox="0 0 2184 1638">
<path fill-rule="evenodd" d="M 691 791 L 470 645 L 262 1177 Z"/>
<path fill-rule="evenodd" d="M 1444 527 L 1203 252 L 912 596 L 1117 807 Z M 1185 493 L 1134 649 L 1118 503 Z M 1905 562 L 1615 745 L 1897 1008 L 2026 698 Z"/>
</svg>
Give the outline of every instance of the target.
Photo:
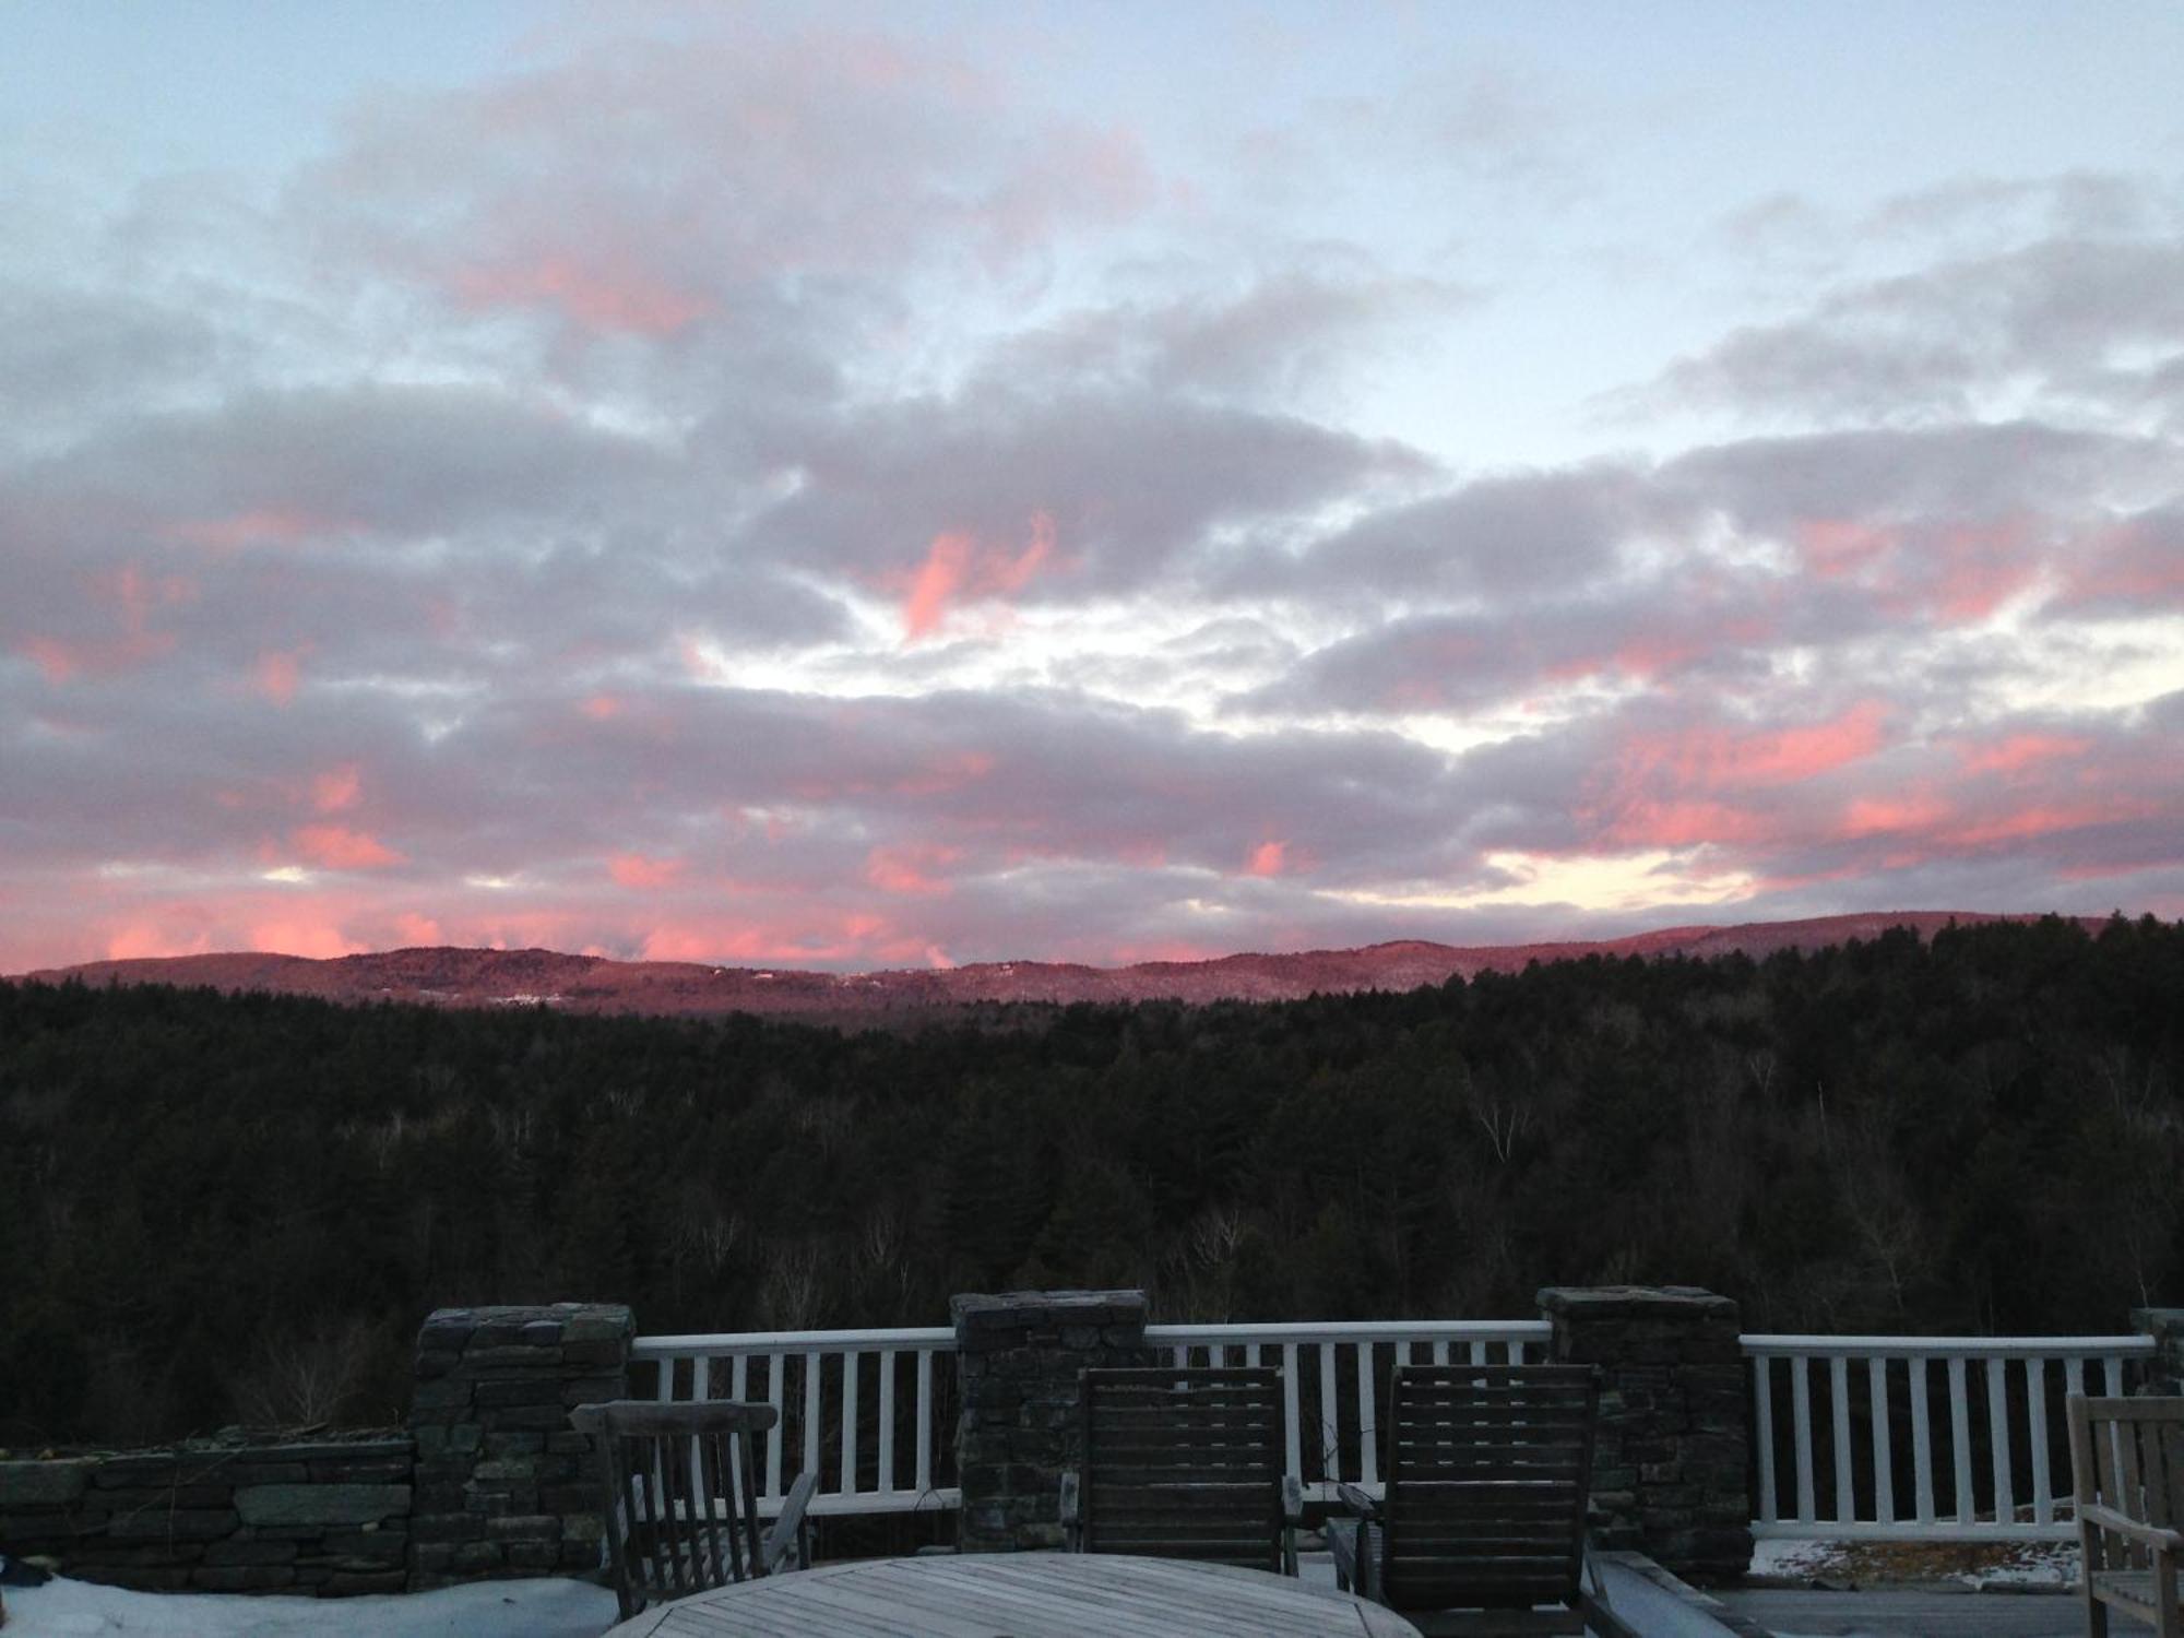
<svg viewBox="0 0 2184 1638">
<path fill-rule="evenodd" d="M 476 1581 L 439 1592 L 286 1599 L 124 1592 L 55 1579 L 7 1588 L 4 1638 L 598 1638 L 614 1592 L 585 1581 Z"/>
</svg>

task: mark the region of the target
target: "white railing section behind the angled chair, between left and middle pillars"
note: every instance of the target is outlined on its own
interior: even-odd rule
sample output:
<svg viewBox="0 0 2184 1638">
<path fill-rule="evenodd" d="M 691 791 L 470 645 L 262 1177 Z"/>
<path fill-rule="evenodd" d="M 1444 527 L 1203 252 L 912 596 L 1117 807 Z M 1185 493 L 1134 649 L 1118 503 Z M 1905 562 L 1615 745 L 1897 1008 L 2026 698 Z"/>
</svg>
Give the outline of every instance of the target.
<svg viewBox="0 0 2184 1638">
<path fill-rule="evenodd" d="M 819 1474 L 815 1516 L 963 1503 L 950 1326 L 638 1337 L 629 1374 L 631 1391 L 657 1400 L 762 1400 L 780 1411 L 758 1474 L 760 1514 L 780 1511 L 799 1472 Z M 784 1461 L 784 1450 L 802 1455 Z"/>
</svg>

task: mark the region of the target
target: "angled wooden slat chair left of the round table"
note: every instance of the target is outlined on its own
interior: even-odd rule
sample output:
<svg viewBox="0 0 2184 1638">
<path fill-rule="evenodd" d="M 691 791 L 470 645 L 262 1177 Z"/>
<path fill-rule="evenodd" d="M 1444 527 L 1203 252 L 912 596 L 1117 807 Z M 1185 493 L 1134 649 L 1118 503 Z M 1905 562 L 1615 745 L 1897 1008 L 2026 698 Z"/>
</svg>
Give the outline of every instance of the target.
<svg viewBox="0 0 2184 1638">
<path fill-rule="evenodd" d="M 751 1437 L 778 1417 L 771 1404 L 736 1400 L 612 1400 L 570 1411 L 601 1452 L 607 1566 L 625 1621 L 646 1603 L 810 1564 L 804 1509 L 819 1474 L 799 1474 L 780 1518 L 758 1535 Z"/>
</svg>

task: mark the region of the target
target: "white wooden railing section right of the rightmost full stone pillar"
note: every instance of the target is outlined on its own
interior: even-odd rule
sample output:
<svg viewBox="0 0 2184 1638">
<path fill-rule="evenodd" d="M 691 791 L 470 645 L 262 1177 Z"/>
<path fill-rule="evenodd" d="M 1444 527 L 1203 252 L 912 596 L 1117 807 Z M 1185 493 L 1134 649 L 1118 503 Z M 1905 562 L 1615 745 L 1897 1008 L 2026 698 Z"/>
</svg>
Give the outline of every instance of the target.
<svg viewBox="0 0 2184 1638">
<path fill-rule="evenodd" d="M 1839 1540 L 2068 1540 L 2064 1396 L 2123 1393 L 2125 1361 L 2153 1352 L 2151 1337 L 1738 1341 L 1752 1361 L 1752 1446 L 1758 1457 L 1752 1533 Z M 1826 1365 L 1828 1389 L 1815 1406 L 1813 1374 L 1819 1365 Z M 1933 1406 L 1937 1376 L 1946 1439 Z M 1789 1426 L 1778 1417 L 1778 1385 L 1784 1378 Z M 1854 1396 L 1854 1378 L 1863 1378 L 1856 1382 L 1863 1396 Z M 1824 1424 L 1821 1437 L 1815 1437 L 1815 1420 Z M 1863 1431 L 1856 1426 L 1861 1420 Z M 1898 1439 L 1909 1441 L 1909 1487 Z M 2027 1481 L 2027 1505 L 2018 1503 L 2020 1476 Z M 1782 1479 L 1791 1481 L 1789 1509 Z"/>
</svg>

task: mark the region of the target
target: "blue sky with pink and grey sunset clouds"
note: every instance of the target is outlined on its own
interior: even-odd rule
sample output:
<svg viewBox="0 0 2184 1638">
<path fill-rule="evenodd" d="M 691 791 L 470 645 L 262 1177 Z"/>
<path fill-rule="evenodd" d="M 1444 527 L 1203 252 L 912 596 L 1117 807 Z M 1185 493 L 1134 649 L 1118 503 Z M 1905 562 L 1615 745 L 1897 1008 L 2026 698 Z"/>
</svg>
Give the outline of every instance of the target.
<svg viewBox="0 0 2184 1638">
<path fill-rule="evenodd" d="M 0 17 L 0 970 L 2184 915 L 2184 9 Z"/>
</svg>

